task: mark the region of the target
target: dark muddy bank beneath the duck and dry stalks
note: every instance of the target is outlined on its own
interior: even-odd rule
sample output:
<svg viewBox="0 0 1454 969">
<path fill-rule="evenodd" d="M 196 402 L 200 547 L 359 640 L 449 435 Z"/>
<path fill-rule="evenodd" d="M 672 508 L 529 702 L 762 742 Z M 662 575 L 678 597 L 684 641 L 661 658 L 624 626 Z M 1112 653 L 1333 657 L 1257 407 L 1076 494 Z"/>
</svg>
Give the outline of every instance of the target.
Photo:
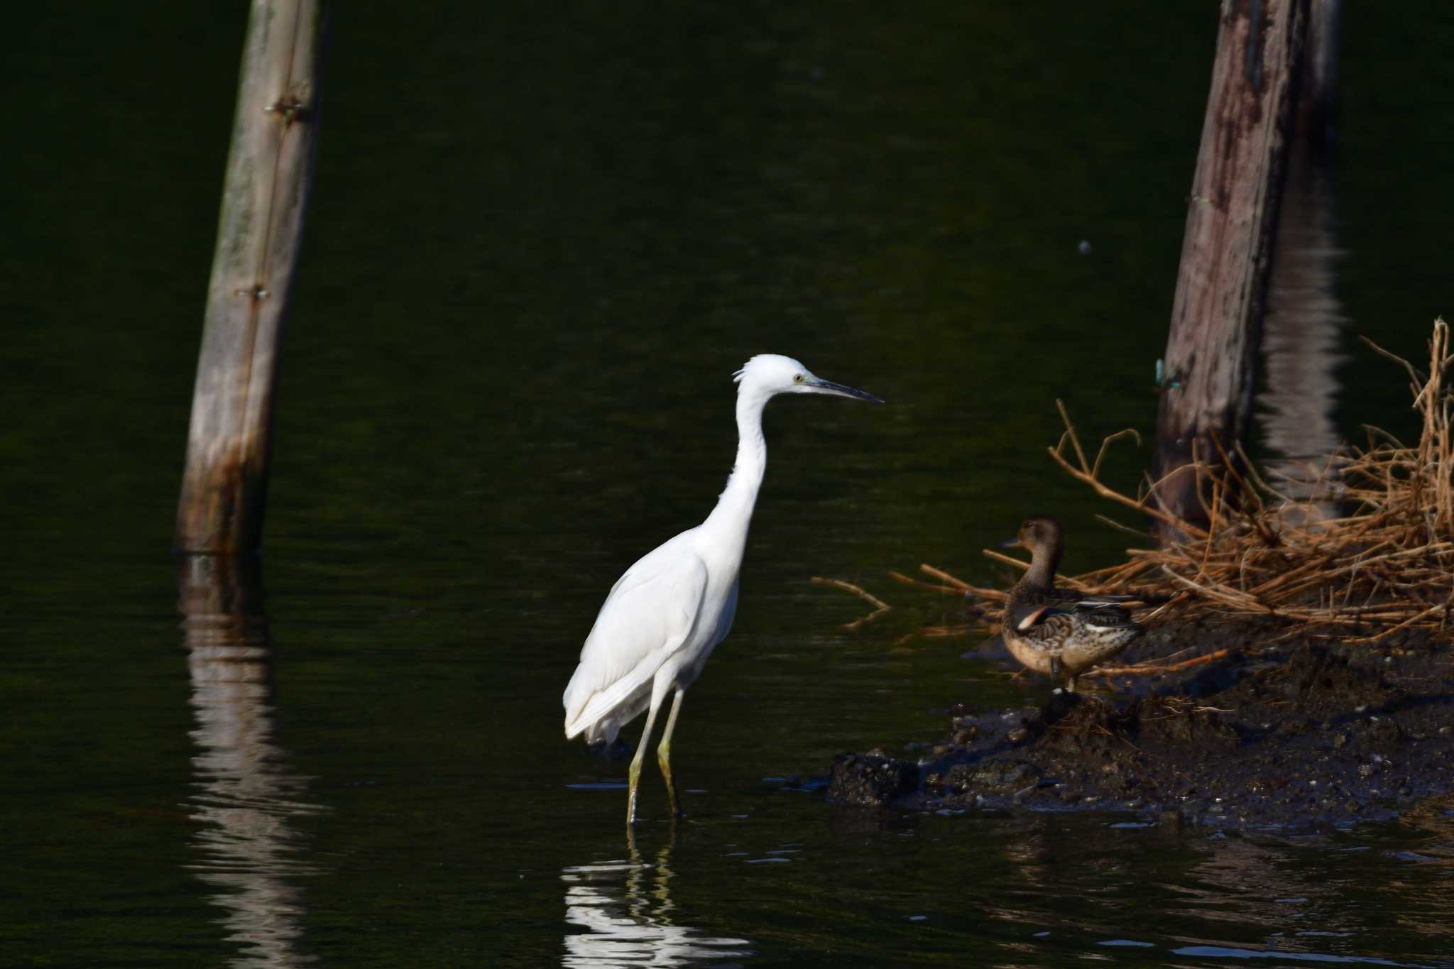
<svg viewBox="0 0 1454 969">
<path fill-rule="evenodd" d="M 1316 828 L 1454 790 L 1454 655 L 1416 633 L 1342 644 L 1264 622 L 1166 623 L 1125 662 L 1229 655 L 1109 690 L 1027 678 L 1040 706 L 957 706 L 926 750 L 845 754 L 829 800 L 916 811 L 1080 808 Z M 1009 668 L 1009 667 L 1006 667 Z M 1098 681 L 1086 677 L 1083 687 Z M 1102 681 L 1104 683 L 1104 681 Z M 894 753 L 896 755 L 888 755 Z"/>
</svg>

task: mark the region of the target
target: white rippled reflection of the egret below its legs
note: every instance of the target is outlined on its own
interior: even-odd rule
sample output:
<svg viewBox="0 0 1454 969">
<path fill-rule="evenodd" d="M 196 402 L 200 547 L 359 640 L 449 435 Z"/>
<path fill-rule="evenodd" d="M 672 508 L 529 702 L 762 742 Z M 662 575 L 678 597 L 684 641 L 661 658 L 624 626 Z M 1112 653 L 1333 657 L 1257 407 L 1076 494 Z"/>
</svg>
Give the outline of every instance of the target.
<svg viewBox="0 0 1454 969">
<path fill-rule="evenodd" d="M 672 920 L 673 840 L 641 860 L 630 838 L 628 860 L 576 864 L 561 870 L 566 923 L 585 931 L 566 934 L 566 966 L 686 966 L 755 956 L 746 938 L 704 936 Z"/>
</svg>

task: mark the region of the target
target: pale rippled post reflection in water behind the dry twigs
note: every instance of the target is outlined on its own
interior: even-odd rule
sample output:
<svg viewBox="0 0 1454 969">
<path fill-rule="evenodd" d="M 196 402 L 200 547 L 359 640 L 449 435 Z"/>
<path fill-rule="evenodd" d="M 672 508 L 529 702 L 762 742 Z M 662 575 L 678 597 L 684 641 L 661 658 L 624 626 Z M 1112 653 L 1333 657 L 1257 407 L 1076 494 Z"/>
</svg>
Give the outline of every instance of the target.
<svg viewBox="0 0 1454 969">
<path fill-rule="evenodd" d="M 1329 173 L 1298 153 L 1290 160 L 1278 222 L 1262 333 L 1266 386 L 1258 398 L 1268 450 L 1281 458 L 1266 462 L 1268 469 L 1293 498 L 1335 497 L 1320 478 L 1328 455 L 1342 443 L 1333 423 L 1338 346 L 1348 323 L 1333 292 L 1342 254 Z"/>
</svg>

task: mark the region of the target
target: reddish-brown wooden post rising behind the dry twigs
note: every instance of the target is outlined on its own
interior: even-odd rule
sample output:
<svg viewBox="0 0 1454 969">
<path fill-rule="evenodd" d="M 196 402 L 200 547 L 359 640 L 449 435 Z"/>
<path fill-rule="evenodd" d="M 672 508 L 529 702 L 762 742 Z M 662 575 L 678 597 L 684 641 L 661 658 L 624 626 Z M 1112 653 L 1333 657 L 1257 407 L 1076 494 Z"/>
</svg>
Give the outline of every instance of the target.
<svg viewBox="0 0 1454 969">
<path fill-rule="evenodd" d="M 1156 423 L 1156 500 L 1204 520 L 1194 456 L 1230 452 L 1252 411 L 1309 0 L 1224 0 Z"/>
</svg>

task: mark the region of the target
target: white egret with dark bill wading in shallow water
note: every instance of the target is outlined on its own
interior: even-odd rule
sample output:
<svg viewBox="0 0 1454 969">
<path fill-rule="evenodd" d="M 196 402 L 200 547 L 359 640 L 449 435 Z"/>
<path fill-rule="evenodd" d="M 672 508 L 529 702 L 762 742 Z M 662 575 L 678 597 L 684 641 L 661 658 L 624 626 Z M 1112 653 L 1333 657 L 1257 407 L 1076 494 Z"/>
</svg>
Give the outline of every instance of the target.
<svg viewBox="0 0 1454 969">
<path fill-rule="evenodd" d="M 580 665 L 561 697 L 566 738 L 582 731 L 586 742 L 614 742 L 616 732 L 647 712 L 641 744 L 631 758 L 627 824 L 635 824 L 637 782 L 651 726 L 670 693 L 656 760 L 679 815 L 672 780 L 672 731 L 682 694 L 696 680 L 712 648 L 727 636 L 737 612 L 737 571 L 747 524 L 768 466 L 762 408 L 776 394 L 833 394 L 883 404 L 864 391 L 824 381 L 792 357 L 765 353 L 733 375 L 737 381 L 737 461 L 717 507 L 644 555 L 616 580 L 580 649 Z"/>
</svg>

